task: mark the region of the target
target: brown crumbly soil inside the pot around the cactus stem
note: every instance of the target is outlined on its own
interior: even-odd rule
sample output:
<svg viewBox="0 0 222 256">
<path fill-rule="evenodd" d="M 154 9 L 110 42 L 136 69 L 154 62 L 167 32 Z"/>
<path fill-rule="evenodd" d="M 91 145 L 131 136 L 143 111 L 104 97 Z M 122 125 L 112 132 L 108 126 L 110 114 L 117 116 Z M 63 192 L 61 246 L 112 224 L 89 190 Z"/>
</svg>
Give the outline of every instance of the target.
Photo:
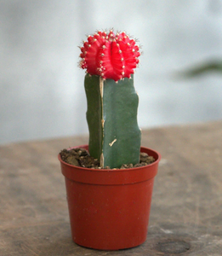
<svg viewBox="0 0 222 256">
<path fill-rule="evenodd" d="M 63 149 L 60 152 L 60 156 L 62 160 L 64 160 L 67 164 L 70 164 L 71 166 L 81 166 L 85 168 L 101 169 L 100 161 L 90 156 L 88 154 L 88 151 L 85 148 L 72 148 L 70 150 Z M 153 163 L 154 161 L 155 159 L 152 156 L 149 156 L 146 153 L 140 153 L 140 160 L 138 164 L 122 165 L 120 169 L 147 166 Z M 106 166 L 103 169 L 110 169 L 110 167 Z M 117 169 L 117 168 L 114 168 L 114 169 Z"/>
</svg>

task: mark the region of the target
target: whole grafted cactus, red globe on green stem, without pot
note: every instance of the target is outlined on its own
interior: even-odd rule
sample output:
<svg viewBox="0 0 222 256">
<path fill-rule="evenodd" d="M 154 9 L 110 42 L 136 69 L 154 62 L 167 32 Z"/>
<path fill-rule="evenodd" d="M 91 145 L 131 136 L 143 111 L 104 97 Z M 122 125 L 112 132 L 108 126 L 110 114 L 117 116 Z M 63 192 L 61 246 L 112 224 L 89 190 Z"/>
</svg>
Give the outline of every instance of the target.
<svg viewBox="0 0 222 256">
<path fill-rule="evenodd" d="M 125 32 L 89 36 L 81 48 L 80 67 L 86 68 L 89 154 L 103 168 L 139 163 L 139 98 L 134 90 L 134 68 L 139 47 Z"/>
</svg>

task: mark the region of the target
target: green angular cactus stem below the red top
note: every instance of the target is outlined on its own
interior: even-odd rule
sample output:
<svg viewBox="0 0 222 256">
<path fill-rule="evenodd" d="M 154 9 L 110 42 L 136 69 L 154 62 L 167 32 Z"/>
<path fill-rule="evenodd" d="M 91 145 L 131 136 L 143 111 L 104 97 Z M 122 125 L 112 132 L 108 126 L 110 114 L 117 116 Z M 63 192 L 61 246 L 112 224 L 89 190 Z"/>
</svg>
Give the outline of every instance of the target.
<svg viewBox="0 0 222 256">
<path fill-rule="evenodd" d="M 115 82 L 97 75 L 85 76 L 88 101 L 89 154 L 100 166 L 119 168 L 139 163 L 141 132 L 137 123 L 139 97 L 134 77 Z"/>
</svg>

